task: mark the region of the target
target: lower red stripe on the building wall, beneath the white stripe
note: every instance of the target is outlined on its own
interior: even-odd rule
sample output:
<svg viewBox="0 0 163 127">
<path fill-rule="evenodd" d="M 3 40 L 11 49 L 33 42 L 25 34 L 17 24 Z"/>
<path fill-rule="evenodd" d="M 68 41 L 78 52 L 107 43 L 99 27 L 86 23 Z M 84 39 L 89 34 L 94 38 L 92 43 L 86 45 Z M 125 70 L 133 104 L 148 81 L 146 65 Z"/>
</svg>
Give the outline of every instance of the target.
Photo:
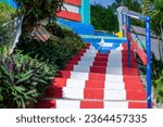
<svg viewBox="0 0 163 127">
<path fill-rule="evenodd" d="M 61 11 L 57 14 L 58 17 L 66 18 L 70 21 L 80 22 L 82 16 L 78 13 L 68 12 L 68 11 Z"/>
</svg>

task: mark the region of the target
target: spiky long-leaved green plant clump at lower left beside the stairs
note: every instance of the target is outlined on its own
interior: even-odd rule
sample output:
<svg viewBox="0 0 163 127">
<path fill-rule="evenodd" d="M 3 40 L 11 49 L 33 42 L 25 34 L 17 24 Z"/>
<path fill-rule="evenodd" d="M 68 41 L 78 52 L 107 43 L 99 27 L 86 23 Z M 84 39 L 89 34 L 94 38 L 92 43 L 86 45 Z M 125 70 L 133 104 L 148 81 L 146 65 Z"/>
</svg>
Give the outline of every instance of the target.
<svg viewBox="0 0 163 127">
<path fill-rule="evenodd" d="M 53 79 L 57 67 L 16 51 L 0 49 L 0 107 L 26 107 L 37 101 Z"/>
</svg>

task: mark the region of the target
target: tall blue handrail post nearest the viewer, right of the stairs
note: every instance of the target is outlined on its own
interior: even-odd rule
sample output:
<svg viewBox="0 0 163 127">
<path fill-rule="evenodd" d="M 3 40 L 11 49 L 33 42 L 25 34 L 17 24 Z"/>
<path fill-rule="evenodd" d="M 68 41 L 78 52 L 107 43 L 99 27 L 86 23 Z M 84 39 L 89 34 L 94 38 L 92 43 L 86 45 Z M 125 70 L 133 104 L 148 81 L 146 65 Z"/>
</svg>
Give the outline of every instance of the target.
<svg viewBox="0 0 163 127">
<path fill-rule="evenodd" d="M 147 48 L 147 103 L 148 109 L 152 107 L 151 100 L 151 40 L 150 40 L 150 17 L 146 18 L 146 48 Z"/>
</svg>

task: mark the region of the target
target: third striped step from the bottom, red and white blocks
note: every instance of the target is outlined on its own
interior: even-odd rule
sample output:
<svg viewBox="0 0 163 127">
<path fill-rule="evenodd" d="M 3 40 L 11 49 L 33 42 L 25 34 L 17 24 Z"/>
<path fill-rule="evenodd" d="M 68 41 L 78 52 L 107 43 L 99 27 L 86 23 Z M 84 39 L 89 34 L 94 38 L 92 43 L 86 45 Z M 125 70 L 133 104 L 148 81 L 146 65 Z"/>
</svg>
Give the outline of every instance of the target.
<svg viewBox="0 0 163 127">
<path fill-rule="evenodd" d="M 130 78 L 131 79 L 131 78 Z M 103 88 L 111 90 L 143 90 L 145 86 L 142 82 L 124 82 L 123 80 L 78 80 L 71 78 L 54 78 L 49 89 L 54 90 L 55 88 Z"/>
</svg>

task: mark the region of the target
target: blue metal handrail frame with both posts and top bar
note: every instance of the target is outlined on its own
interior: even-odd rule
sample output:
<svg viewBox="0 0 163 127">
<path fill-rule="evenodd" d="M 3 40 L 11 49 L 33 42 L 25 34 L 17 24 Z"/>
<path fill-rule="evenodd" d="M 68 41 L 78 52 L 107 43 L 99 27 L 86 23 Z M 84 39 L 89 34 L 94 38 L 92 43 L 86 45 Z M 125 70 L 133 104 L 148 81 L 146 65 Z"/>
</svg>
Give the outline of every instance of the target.
<svg viewBox="0 0 163 127">
<path fill-rule="evenodd" d="M 151 39 L 150 39 L 150 17 L 142 15 L 137 12 L 128 11 L 127 13 L 122 13 L 122 23 L 125 24 L 126 20 L 126 29 L 130 33 L 130 18 L 140 20 L 146 22 L 146 53 L 147 53 L 147 103 L 148 109 L 152 107 L 151 99 Z M 123 31 L 124 34 L 124 31 Z M 130 41 L 127 38 L 128 42 L 128 67 L 130 67 Z"/>
</svg>

